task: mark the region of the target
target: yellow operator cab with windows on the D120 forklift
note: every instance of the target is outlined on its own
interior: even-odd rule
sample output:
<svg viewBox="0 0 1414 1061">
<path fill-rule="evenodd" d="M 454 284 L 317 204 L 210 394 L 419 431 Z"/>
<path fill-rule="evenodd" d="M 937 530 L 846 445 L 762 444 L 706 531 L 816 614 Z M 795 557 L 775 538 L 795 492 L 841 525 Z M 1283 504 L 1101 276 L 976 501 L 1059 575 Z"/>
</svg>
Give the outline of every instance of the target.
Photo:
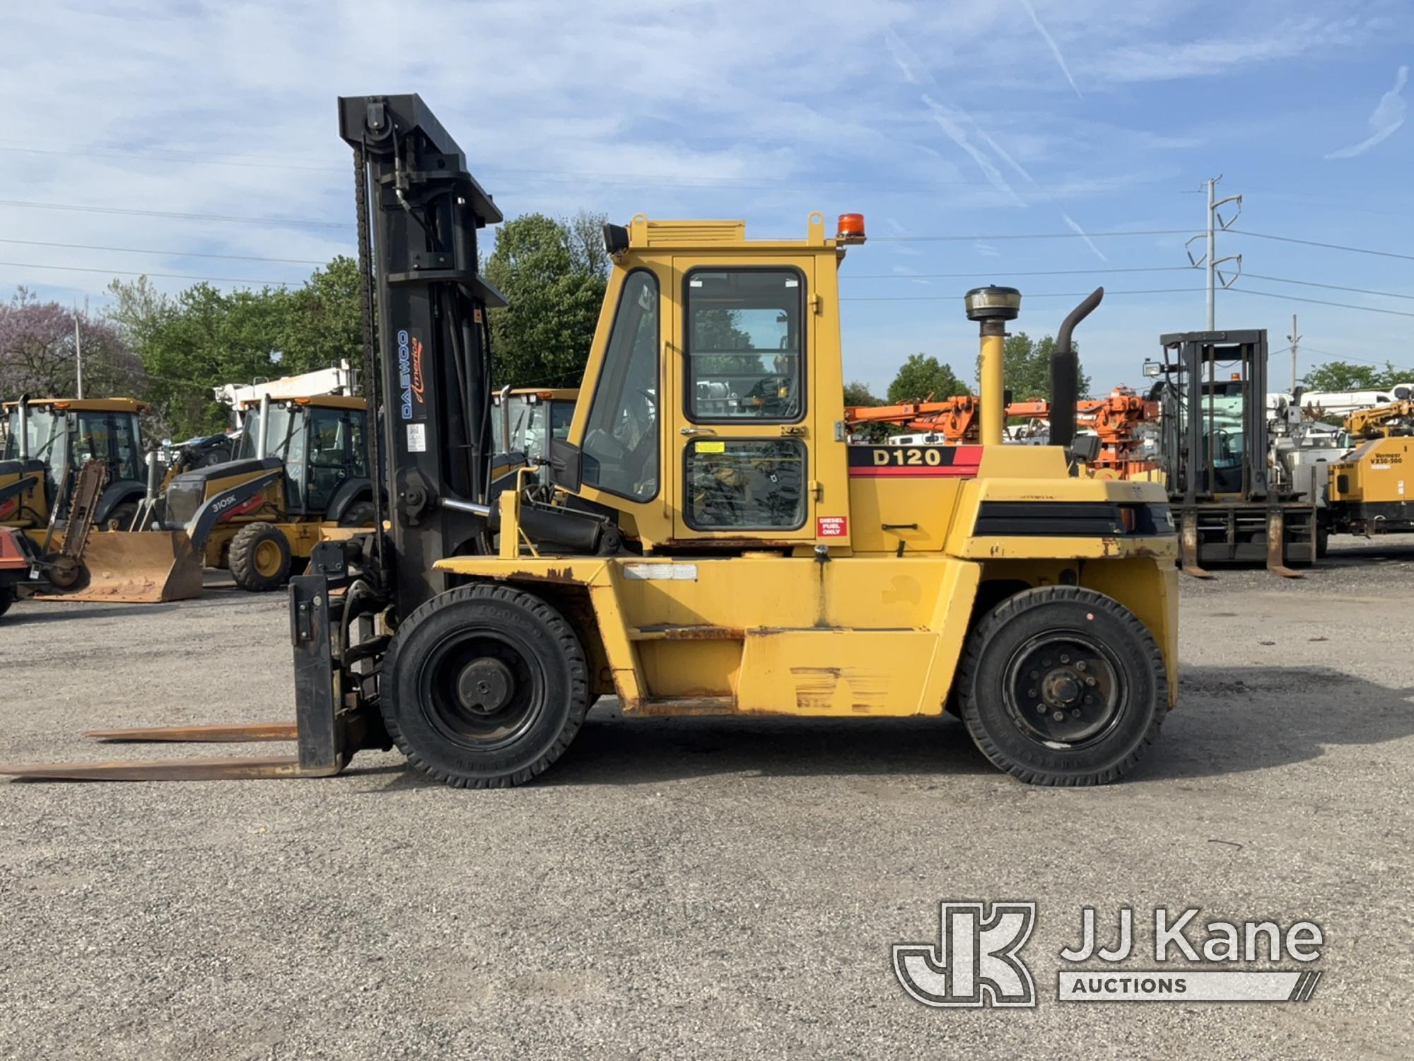
<svg viewBox="0 0 1414 1061">
<path fill-rule="evenodd" d="M 580 497 L 619 514 L 645 552 L 813 549 L 820 526 L 847 545 L 844 447 L 813 444 L 844 412 L 824 315 L 844 252 L 822 215 L 800 240 L 642 215 L 605 240 L 615 266 L 559 450 Z"/>
</svg>

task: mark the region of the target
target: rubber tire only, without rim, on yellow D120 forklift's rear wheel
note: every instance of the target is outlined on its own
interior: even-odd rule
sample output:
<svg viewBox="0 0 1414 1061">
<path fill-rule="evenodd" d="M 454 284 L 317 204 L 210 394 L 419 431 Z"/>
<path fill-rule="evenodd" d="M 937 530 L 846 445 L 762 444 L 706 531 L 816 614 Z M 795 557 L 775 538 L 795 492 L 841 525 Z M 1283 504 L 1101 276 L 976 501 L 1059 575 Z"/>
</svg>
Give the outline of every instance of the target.
<svg viewBox="0 0 1414 1061">
<path fill-rule="evenodd" d="M 1007 707 L 1007 668 L 1034 638 L 1073 632 L 1107 648 L 1123 696 L 1107 731 L 1068 747 L 1044 743 Z M 1154 637 L 1123 604 L 1075 586 L 1024 590 L 987 613 L 967 638 L 959 672 L 963 721 L 994 765 L 1031 785 L 1118 781 L 1158 737 L 1168 671 Z"/>
</svg>

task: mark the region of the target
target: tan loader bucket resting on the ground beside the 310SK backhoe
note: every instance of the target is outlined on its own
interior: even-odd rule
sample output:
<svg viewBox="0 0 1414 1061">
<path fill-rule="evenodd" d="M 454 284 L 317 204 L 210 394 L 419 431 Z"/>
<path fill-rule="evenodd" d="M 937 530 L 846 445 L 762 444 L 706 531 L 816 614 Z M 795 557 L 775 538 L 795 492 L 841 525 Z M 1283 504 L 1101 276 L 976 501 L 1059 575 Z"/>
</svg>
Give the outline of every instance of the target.
<svg viewBox="0 0 1414 1061">
<path fill-rule="evenodd" d="M 146 604 L 201 596 L 201 557 L 185 530 L 95 530 L 83 566 L 88 584 L 55 600 Z"/>
</svg>

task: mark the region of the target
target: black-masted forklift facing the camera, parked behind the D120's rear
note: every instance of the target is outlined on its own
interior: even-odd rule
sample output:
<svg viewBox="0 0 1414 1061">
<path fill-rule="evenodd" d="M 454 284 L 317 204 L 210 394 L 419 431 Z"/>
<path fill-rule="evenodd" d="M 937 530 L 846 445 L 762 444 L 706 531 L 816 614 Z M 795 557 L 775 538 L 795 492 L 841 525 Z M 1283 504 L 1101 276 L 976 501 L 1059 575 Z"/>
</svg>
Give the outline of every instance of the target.
<svg viewBox="0 0 1414 1061">
<path fill-rule="evenodd" d="M 1268 475 L 1267 332 L 1188 331 L 1161 335 L 1164 359 L 1159 467 L 1179 519 L 1184 572 L 1203 564 L 1261 563 L 1299 577 L 1290 564 L 1316 559 L 1316 499 Z"/>
</svg>

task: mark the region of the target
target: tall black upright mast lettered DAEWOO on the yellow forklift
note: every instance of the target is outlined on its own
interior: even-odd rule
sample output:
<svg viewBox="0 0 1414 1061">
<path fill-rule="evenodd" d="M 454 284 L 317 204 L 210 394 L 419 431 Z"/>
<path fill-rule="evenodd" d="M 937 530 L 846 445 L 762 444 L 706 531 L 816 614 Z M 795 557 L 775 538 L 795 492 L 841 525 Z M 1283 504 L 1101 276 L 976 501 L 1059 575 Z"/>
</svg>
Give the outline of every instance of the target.
<svg viewBox="0 0 1414 1061">
<path fill-rule="evenodd" d="M 486 310 L 506 301 L 478 274 L 477 238 L 502 215 L 417 95 L 341 98 L 339 136 L 356 171 L 363 378 L 382 410 L 366 433 L 375 525 L 392 523 L 373 564 L 406 615 L 440 589 L 433 562 L 488 547 Z"/>
</svg>

